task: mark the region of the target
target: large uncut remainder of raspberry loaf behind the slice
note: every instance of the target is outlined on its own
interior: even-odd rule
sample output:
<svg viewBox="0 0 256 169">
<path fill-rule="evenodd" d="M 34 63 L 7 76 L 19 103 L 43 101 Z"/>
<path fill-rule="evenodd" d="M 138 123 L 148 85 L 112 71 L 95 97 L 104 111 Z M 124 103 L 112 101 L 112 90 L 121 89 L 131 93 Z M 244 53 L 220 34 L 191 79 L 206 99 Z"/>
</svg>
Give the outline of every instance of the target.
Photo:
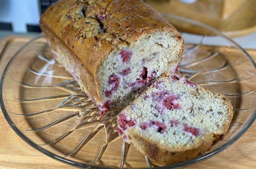
<svg viewBox="0 0 256 169">
<path fill-rule="evenodd" d="M 180 33 L 142 0 L 62 0 L 40 24 L 54 58 L 101 114 L 177 71 L 183 52 Z"/>
</svg>

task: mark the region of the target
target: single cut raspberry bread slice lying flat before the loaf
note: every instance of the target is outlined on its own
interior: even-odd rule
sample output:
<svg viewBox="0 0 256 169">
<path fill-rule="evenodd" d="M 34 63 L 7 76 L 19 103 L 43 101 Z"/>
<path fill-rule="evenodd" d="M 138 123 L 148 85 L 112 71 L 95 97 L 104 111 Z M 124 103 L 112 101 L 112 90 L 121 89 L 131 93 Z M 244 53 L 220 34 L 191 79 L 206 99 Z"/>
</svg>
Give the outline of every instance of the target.
<svg viewBox="0 0 256 169">
<path fill-rule="evenodd" d="M 158 165 L 194 158 L 228 131 L 230 101 L 221 94 L 165 73 L 117 117 L 117 131 Z"/>
</svg>

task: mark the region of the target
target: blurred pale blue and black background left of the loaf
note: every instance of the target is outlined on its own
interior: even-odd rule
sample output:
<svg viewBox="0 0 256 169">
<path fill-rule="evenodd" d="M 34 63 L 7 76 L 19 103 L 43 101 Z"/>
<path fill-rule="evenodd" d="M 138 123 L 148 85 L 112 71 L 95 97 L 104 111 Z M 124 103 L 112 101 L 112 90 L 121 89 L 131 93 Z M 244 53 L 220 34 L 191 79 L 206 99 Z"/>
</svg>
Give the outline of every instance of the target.
<svg viewBox="0 0 256 169">
<path fill-rule="evenodd" d="M 0 0 L 0 30 L 41 32 L 41 14 L 58 0 Z"/>
</svg>

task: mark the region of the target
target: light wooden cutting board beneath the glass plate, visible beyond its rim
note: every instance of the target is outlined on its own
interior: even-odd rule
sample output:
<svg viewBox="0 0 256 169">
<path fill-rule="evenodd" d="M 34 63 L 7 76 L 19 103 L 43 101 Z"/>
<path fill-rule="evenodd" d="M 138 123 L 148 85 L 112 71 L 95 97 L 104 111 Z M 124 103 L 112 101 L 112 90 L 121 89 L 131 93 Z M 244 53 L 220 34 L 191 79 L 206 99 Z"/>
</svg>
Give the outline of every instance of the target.
<svg viewBox="0 0 256 169">
<path fill-rule="evenodd" d="M 0 42 L 0 74 L 10 60 L 31 37 L 8 36 Z M 247 52 L 256 59 L 256 50 Z M 0 110 L 0 169 L 68 169 L 72 166 L 54 160 L 25 143 L 9 126 Z M 187 168 L 256 168 L 256 123 L 228 149 Z"/>
</svg>

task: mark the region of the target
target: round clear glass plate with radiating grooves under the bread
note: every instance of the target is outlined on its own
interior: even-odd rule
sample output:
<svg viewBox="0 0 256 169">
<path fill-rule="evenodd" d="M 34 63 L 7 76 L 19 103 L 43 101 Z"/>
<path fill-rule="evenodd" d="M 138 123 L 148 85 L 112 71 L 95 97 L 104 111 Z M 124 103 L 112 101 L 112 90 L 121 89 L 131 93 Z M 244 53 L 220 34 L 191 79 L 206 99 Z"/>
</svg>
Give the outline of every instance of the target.
<svg viewBox="0 0 256 169">
<path fill-rule="evenodd" d="M 182 33 L 185 50 L 180 72 L 234 107 L 227 135 L 211 150 L 185 162 L 155 166 L 116 132 L 116 114 L 103 117 L 76 81 L 56 63 L 43 34 L 10 60 L 0 83 L 1 108 L 12 129 L 44 154 L 81 168 L 175 168 L 202 161 L 233 144 L 256 118 L 255 62 L 217 30 L 186 18 L 164 15 L 171 22 L 203 28 L 216 36 Z M 190 44 L 190 41 L 197 41 Z"/>
</svg>

